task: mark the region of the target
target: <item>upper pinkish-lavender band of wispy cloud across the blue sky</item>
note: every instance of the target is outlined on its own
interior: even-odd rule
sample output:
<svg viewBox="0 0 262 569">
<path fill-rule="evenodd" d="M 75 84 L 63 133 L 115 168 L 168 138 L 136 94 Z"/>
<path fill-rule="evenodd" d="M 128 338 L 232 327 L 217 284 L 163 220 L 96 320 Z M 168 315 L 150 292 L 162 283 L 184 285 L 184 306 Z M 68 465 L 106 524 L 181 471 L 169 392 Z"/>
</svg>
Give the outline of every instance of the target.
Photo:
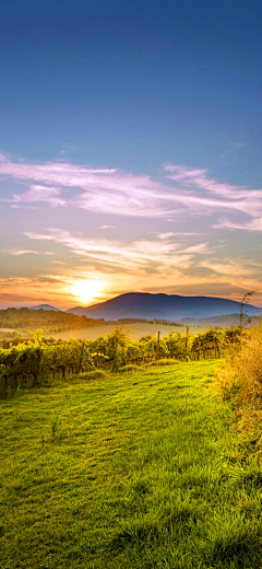
<svg viewBox="0 0 262 569">
<path fill-rule="evenodd" d="M 66 162 L 15 163 L 0 155 L 0 176 L 21 183 L 21 193 L 1 198 L 13 207 L 47 202 L 52 208 L 68 206 L 111 216 L 178 220 L 183 220 L 184 216 L 219 214 L 223 210 L 230 217 L 242 213 L 258 219 L 262 216 L 262 189 L 219 182 L 205 169 L 167 164 L 159 182 L 146 174 L 117 169 Z M 28 184 L 26 190 L 25 184 Z M 237 223 L 239 220 L 233 218 L 230 221 Z M 105 224 L 100 229 L 109 227 Z M 252 231 L 257 223 L 247 227 Z"/>
</svg>

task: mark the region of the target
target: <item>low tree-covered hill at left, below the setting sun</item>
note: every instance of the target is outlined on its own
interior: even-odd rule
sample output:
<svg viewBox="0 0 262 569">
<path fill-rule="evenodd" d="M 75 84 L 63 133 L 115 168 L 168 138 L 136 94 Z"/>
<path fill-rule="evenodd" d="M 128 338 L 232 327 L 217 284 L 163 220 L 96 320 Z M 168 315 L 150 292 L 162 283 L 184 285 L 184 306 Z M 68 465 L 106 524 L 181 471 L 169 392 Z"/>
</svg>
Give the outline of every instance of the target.
<svg viewBox="0 0 262 569">
<path fill-rule="evenodd" d="M 87 328 L 104 323 L 104 320 L 93 320 L 76 316 L 70 312 L 52 310 L 7 309 L 0 311 L 1 328 L 34 330 L 41 328 L 45 333 L 55 333 L 75 328 Z"/>
</svg>

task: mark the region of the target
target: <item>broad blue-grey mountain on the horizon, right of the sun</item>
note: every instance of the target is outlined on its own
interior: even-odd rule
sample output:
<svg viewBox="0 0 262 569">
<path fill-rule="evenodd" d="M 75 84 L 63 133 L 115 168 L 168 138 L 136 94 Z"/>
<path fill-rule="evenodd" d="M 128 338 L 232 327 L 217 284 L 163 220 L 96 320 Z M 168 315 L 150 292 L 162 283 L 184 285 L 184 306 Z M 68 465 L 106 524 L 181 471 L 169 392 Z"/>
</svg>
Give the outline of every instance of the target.
<svg viewBox="0 0 262 569">
<path fill-rule="evenodd" d="M 128 292 L 111 300 L 93 304 L 93 306 L 75 306 L 67 312 L 85 315 L 90 318 L 144 318 L 180 321 L 182 318 L 205 318 L 239 314 L 240 302 L 212 297 L 179 297 L 177 294 L 151 294 L 148 292 Z M 260 314 L 260 309 L 251 304 L 245 306 L 249 316 Z"/>
</svg>

